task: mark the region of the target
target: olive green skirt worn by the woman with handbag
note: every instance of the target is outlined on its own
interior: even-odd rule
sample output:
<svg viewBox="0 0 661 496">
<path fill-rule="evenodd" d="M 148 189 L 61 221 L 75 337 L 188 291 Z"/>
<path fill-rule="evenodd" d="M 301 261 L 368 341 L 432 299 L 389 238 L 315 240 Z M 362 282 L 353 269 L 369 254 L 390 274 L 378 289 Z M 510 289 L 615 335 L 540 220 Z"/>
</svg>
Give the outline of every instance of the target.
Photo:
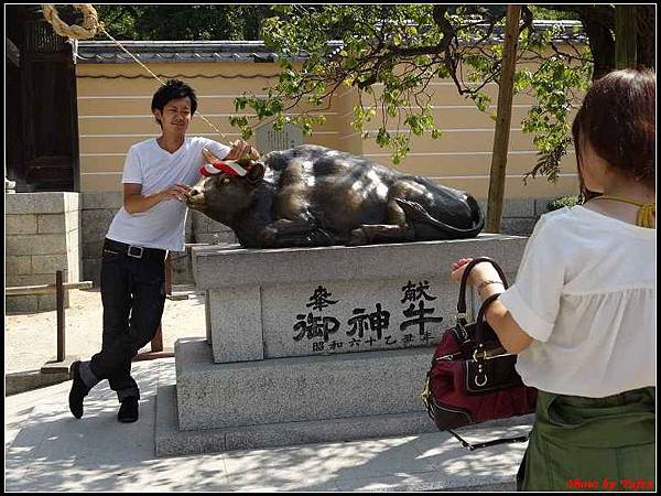
<svg viewBox="0 0 661 496">
<path fill-rule="evenodd" d="M 539 391 L 518 490 L 655 490 L 655 395 Z"/>
</svg>

